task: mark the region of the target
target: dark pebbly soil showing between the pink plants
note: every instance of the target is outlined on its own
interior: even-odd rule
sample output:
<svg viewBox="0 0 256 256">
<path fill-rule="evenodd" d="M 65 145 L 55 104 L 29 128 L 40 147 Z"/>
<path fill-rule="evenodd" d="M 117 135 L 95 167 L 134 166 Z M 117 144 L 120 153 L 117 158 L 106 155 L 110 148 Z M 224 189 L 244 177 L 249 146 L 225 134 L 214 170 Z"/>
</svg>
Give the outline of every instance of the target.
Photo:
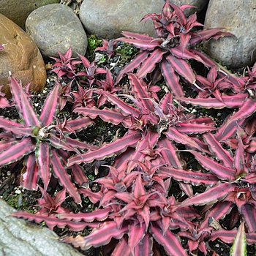
<svg viewBox="0 0 256 256">
<path fill-rule="evenodd" d="M 78 15 L 80 4 L 83 2 L 83 0 L 68 0 L 63 1 L 61 0 L 61 4 L 67 4 L 72 10 Z M 203 15 L 201 14 L 203 17 Z M 202 18 L 203 19 L 203 18 Z M 94 45 L 95 47 L 95 45 Z M 121 70 L 122 67 L 124 67 L 134 56 L 136 49 L 129 47 L 127 48 L 127 45 L 120 45 L 121 49 L 125 50 L 122 52 L 121 57 L 114 57 L 113 59 L 108 60 L 108 57 L 104 58 L 101 63 L 98 62 L 98 67 L 108 67 L 108 69 L 111 70 L 113 73 L 113 76 L 116 76 L 118 72 Z M 95 55 L 91 54 L 90 49 L 86 53 L 86 58 L 89 59 L 89 61 L 94 61 Z M 54 81 L 57 79 L 57 75 L 53 72 L 51 72 L 51 69 L 49 67 L 51 64 L 53 64 L 54 61 L 45 61 L 45 65 L 48 67 L 47 71 L 47 84 L 45 86 L 45 89 L 40 93 L 35 95 L 34 97 L 31 97 L 31 101 L 33 102 L 34 108 L 37 110 L 37 113 L 40 113 L 41 107 L 44 104 L 45 98 L 47 97 L 48 93 L 54 86 Z M 61 79 L 61 83 L 69 83 L 70 80 L 63 80 Z M 123 85 L 125 86 L 127 81 L 123 79 L 121 81 Z M 72 89 L 75 89 L 75 84 L 73 85 Z M 192 96 L 193 91 L 190 89 L 187 89 L 187 95 L 186 96 Z M 61 111 L 58 118 L 61 118 L 63 116 L 66 116 L 68 119 L 69 117 L 72 118 L 73 114 L 71 113 L 71 105 L 67 104 L 67 106 L 64 108 L 64 110 Z M 188 108 L 190 108 L 188 106 Z M 195 108 L 197 110 L 197 113 L 199 115 L 205 114 L 203 113 L 204 110 L 200 108 Z M 214 121 L 217 122 L 218 125 L 222 124 L 222 121 L 225 119 L 225 116 L 231 111 L 231 110 L 222 110 L 221 112 L 219 110 L 207 110 L 207 115 L 212 116 L 214 118 Z M 6 108 L 4 110 L 0 110 L 1 116 L 6 116 L 12 119 L 18 119 L 18 113 L 15 111 L 15 108 Z M 80 138 L 80 140 L 86 140 L 86 143 L 92 143 L 94 145 L 101 145 L 103 142 L 110 142 L 113 140 L 114 135 L 116 135 L 116 132 L 119 132 L 119 134 L 123 134 L 126 132 L 124 127 L 121 126 L 115 126 L 113 124 L 106 124 L 105 122 L 102 122 L 99 118 L 96 120 L 96 124 L 86 129 L 86 131 L 78 132 L 77 136 Z M 191 157 L 191 156 L 190 156 Z M 191 159 L 191 165 L 195 164 L 197 165 L 197 162 L 194 161 L 195 159 Z M 113 158 L 106 159 L 108 161 L 108 164 L 111 164 L 113 162 Z M 194 163 L 193 163 L 194 161 Z M 89 186 L 92 188 L 94 187 L 94 190 L 99 189 L 97 185 L 93 184 L 91 181 L 94 181 L 94 179 L 99 178 L 100 176 L 105 176 L 107 174 L 107 171 L 104 168 L 101 168 L 98 173 L 94 173 L 94 168 L 91 167 L 91 165 L 84 165 L 84 168 L 86 170 L 86 174 L 89 177 Z M 22 187 L 19 187 L 19 180 L 20 180 L 20 171 L 22 169 L 22 165 L 10 165 L 7 167 L 1 167 L 0 169 L 0 196 L 4 200 L 7 201 L 7 203 L 10 204 L 10 206 L 13 206 L 14 208 L 18 208 L 19 210 L 24 211 L 30 211 L 35 212 L 37 211 L 37 199 L 40 198 L 42 195 L 39 191 L 29 191 L 26 189 L 23 189 Z M 49 193 L 53 195 L 54 192 L 61 190 L 61 187 L 55 187 L 54 191 L 49 190 Z M 83 198 L 83 204 L 82 206 L 78 206 L 73 202 L 73 200 L 69 197 L 65 201 L 65 205 L 67 208 L 69 208 L 73 212 L 87 212 L 91 211 L 91 208 L 95 208 L 95 206 L 89 202 L 89 200 L 86 200 L 86 198 Z M 227 219 L 228 220 L 228 217 Z M 42 225 L 42 224 L 41 224 Z M 67 236 L 67 235 L 77 235 L 78 233 L 72 233 L 68 228 L 60 229 L 58 227 L 54 228 L 54 231 L 59 236 Z M 83 233 L 80 232 L 80 234 L 83 234 L 83 236 L 86 236 L 86 234 L 89 234 L 90 230 L 86 229 L 83 230 Z M 186 241 L 181 241 L 183 243 L 186 243 Z M 213 241 L 209 244 L 211 248 L 217 252 L 219 255 L 227 256 L 230 255 L 230 247 L 232 244 L 225 244 L 220 240 Z M 83 255 L 102 255 L 102 249 L 94 249 L 91 248 L 87 251 L 81 251 Z M 254 246 L 248 246 L 247 249 L 248 255 L 255 255 L 255 247 Z M 162 256 L 165 255 L 164 250 L 162 250 Z M 198 254 L 203 255 L 203 254 Z M 212 255 L 212 254 L 209 254 Z"/>
</svg>

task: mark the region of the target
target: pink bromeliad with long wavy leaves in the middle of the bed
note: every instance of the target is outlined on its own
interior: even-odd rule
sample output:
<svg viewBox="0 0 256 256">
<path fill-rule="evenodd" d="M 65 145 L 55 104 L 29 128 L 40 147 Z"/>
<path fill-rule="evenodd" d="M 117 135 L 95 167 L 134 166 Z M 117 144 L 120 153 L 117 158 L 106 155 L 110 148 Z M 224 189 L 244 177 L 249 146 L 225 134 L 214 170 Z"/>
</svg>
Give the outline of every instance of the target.
<svg viewBox="0 0 256 256">
<path fill-rule="evenodd" d="M 116 125 L 122 124 L 128 129 L 127 134 L 97 150 L 70 157 L 69 166 L 81 162 L 92 162 L 94 159 L 101 160 L 105 157 L 124 153 L 128 147 L 134 147 L 135 150 L 129 150 L 129 157 L 124 154 L 123 160 L 118 159 L 118 165 L 126 167 L 126 162 L 129 159 L 141 161 L 146 155 L 151 155 L 150 152 L 154 151 L 155 146 L 159 144 L 159 154 L 162 150 L 165 151 L 164 154 L 167 154 L 163 163 L 167 161 L 175 167 L 181 167 L 177 163 L 179 157 L 176 153 L 176 146 L 171 141 L 184 144 L 189 148 L 202 150 L 195 142 L 196 138 L 189 135 L 215 130 L 214 121 L 211 118 L 195 118 L 194 115 L 186 113 L 181 105 L 175 105 L 173 95 L 170 92 L 165 94 L 161 101 L 158 101 L 154 98 L 157 95 L 155 94 L 156 91 L 151 93 L 149 86 L 134 74 L 129 74 L 129 80 L 133 95 L 113 95 L 108 91 L 91 89 L 99 96 L 105 97 L 115 108 L 100 109 L 93 106 L 91 108 L 75 108 L 74 110 L 76 113 L 93 119 L 99 116 L 103 121 L 111 121 Z M 120 97 L 130 100 L 132 104 L 126 103 Z M 132 164 L 129 166 L 131 167 Z"/>
</svg>

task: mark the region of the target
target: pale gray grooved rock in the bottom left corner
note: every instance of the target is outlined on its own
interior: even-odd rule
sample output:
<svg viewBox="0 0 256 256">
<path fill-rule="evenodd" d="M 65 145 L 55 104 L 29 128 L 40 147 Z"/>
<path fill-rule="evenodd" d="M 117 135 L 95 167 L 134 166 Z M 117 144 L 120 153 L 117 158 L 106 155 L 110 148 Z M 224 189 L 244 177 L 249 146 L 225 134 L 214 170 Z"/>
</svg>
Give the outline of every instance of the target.
<svg viewBox="0 0 256 256">
<path fill-rule="evenodd" d="M 10 217 L 13 211 L 0 199 L 0 256 L 82 256 L 47 227 Z"/>
</svg>

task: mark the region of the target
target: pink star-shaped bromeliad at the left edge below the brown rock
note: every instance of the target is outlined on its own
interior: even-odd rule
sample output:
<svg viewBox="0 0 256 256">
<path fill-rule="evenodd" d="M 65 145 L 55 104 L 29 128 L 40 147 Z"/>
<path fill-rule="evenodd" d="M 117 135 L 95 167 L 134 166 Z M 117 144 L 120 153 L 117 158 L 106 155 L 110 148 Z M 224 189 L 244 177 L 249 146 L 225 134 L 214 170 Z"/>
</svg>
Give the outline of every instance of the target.
<svg viewBox="0 0 256 256">
<path fill-rule="evenodd" d="M 90 118 L 77 118 L 68 121 L 64 119 L 61 123 L 55 117 L 59 102 L 59 83 L 56 83 L 45 100 L 40 116 L 34 112 L 22 86 L 12 77 L 10 77 L 10 89 L 15 108 L 22 121 L 12 121 L 0 116 L 0 127 L 3 129 L 0 133 L 0 166 L 10 165 L 23 159 L 21 186 L 37 189 L 38 179 L 41 178 L 46 191 L 53 173 L 75 202 L 80 203 L 78 190 L 70 180 L 65 167 L 69 157 L 67 152 L 79 153 L 77 148 L 97 147 L 69 138 L 69 134 L 89 127 L 93 121 Z M 78 165 L 75 165 L 73 172 L 76 172 L 75 177 L 79 177 L 78 173 L 80 173 L 80 178 L 87 181 Z M 77 182 L 83 183 L 79 179 Z"/>
</svg>

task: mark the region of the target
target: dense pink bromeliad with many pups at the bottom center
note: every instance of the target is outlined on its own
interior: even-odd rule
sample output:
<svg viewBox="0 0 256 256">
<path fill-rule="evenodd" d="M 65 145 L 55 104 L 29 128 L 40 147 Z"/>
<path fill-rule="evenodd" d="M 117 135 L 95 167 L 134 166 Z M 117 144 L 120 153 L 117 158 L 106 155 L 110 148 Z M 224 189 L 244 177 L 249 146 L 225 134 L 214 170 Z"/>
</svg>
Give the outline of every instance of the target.
<svg viewBox="0 0 256 256">
<path fill-rule="evenodd" d="M 109 168 L 107 177 L 95 181 L 102 184 L 99 192 L 80 189 L 92 202 L 99 202 L 99 208 L 93 213 L 60 213 L 56 217 L 44 217 L 45 223 L 50 227 L 68 225 L 72 230 L 79 229 L 78 223 L 80 230 L 86 225 L 92 227 L 89 236 L 64 238 L 82 249 L 108 244 L 108 250 L 113 250 L 112 255 L 157 255 L 160 244 L 168 255 L 187 255 L 170 229 L 186 230 L 187 222 L 200 216 L 189 207 L 176 211 L 175 198 L 167 195 L 170 176 L 162 174 L 159 166 L 149 161 L 136 162 L 131 171 Z M 17 212 L 14 215 L 42 221 L 42 214 Z"/>
</svg>

